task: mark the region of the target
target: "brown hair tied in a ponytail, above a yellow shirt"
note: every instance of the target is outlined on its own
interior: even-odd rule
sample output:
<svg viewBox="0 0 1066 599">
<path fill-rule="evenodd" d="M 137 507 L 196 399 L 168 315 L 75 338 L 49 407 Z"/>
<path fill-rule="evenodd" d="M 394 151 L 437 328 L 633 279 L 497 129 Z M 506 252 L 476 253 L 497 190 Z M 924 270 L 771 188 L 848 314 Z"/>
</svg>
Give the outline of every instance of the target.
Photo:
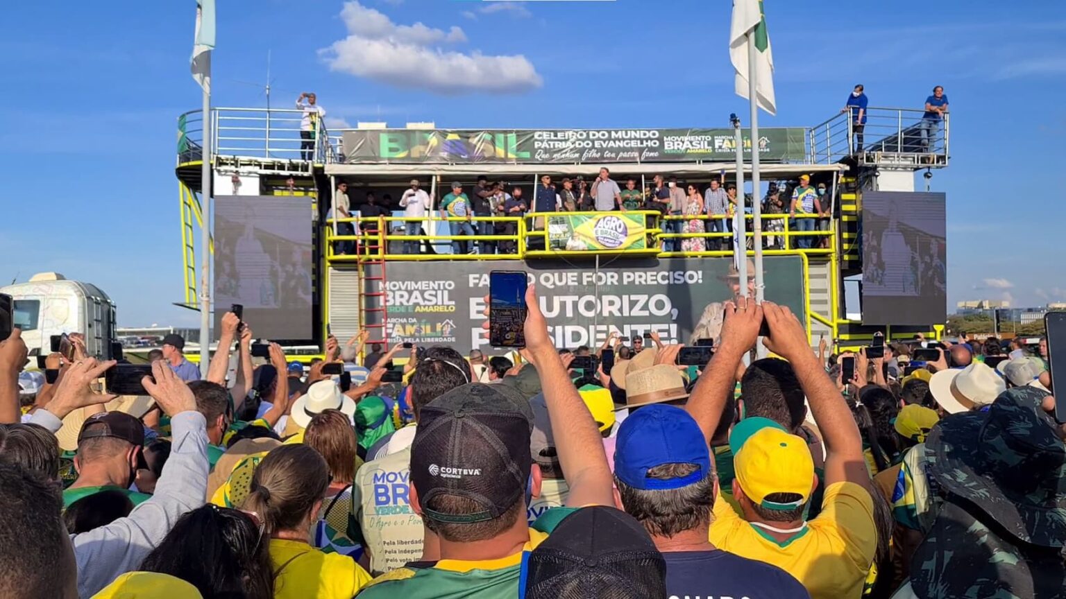
<svg viewBox="0 0 1066 599">
<path fill-rule="evenodd" d="M 259 518 L 268 537 L 298 530 L 313 517 L 328 486 L 329 468 L 319 452 L 305 444 L 281 446 L 256 467 L 242 509 Z"/>
</svg>

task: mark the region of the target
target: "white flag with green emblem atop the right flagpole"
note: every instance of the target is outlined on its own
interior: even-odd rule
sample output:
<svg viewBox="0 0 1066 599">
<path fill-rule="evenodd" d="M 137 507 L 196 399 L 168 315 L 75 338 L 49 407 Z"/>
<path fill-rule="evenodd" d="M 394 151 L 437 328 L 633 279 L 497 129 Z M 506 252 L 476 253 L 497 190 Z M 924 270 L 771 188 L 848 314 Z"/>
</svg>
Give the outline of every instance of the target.
<svg viewBox="0 0 1066 599">
<path fill-rule="evenodd" d="M 747 32 L 755 30 L 755 95 L 759 108 L 777 114 L 774 100 L 774 54 L 770 50 L 762 0 L 733 0 L 732 27 L 729 31 L 729 59 L 737 70 L 737 95 L 747 98 Z M 750 98 L 748 98 L 750 99 Z"/>
</svg>

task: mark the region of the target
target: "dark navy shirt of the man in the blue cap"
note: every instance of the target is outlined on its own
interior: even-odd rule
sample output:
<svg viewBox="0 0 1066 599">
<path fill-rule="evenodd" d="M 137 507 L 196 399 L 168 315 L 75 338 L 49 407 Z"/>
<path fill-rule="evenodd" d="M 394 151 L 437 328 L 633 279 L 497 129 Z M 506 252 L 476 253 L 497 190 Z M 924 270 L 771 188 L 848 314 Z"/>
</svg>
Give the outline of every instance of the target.
<svg viewBox="0 0 1066 599">
<path fill-rule="evenodd" d="M 777 566 L 714 549 L 664 551 L 667 597 L 810 599 L 800 581 Z"/>
</svg>

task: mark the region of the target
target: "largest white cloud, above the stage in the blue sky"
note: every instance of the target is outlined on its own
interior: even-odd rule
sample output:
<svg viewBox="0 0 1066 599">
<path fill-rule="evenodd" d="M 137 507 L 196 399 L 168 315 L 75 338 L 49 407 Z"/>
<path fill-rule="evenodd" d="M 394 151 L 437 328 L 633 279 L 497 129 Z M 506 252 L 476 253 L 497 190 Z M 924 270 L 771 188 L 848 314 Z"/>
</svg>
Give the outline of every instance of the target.
<svg viewBox="0 0 1066 599">
<path fill-rule="evenodd" d="M 341 19 L 349 35 L 319 50 L 330 70 L 440 94 L 518 93 L 543 83 L 536 68 L 521 54 L 441 49 L 441 43 L 466 41 L 458 27 L 446 32 L 421 22 L 395 25 L 357 0 L 344 3 Z"/>
</svg>

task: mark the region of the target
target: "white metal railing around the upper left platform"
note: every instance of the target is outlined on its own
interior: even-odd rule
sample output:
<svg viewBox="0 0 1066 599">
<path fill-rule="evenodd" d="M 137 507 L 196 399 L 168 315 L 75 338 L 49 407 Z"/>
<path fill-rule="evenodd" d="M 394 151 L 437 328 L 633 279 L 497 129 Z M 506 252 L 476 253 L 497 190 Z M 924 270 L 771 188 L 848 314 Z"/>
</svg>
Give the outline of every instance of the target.
<svg viewBox="0 0 1066 599">
<path fill-rule="evenodd" d="M 324 164 L 335 160 L 336 148 L 321 120 L 312 139 L 302 135 L 298 109 L 211 109 L 211 152 L 237 159 L 303 161 Z M 203 157 L 203 111 L 178 117 L 178 164 Z"/>
</svg>

